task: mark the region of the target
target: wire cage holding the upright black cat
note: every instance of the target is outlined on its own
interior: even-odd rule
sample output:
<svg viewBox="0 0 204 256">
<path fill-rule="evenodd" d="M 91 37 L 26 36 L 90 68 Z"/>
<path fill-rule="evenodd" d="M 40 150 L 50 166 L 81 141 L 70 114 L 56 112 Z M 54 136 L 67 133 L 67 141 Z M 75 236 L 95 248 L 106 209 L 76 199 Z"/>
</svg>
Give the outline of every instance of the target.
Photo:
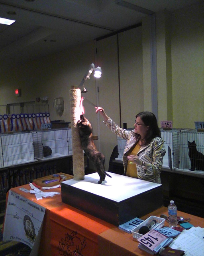
<svg viewBox="0 0 204 256">
<path fill-rule="evenodd" d="M 204 171 L 204 132 L 195 129 L 179 133 L 179 169 Z"/>
</svg>

